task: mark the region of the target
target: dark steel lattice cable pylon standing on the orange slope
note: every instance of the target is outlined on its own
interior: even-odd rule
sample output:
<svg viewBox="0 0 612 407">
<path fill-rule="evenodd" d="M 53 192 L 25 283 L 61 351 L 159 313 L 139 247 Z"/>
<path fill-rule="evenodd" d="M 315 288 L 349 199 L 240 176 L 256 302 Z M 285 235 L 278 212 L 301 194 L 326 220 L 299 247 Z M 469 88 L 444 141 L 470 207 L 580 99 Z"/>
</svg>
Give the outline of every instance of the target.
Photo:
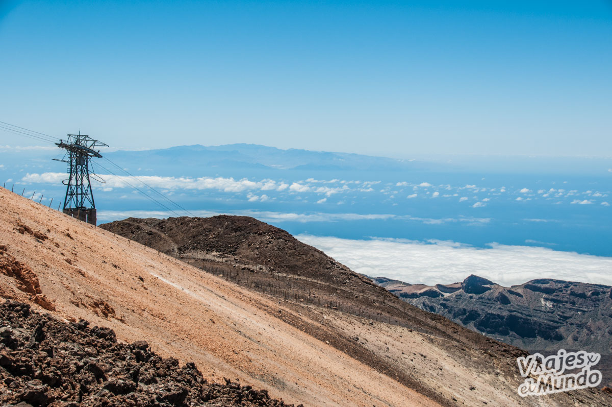
<svg viewBox="0 0 612 407">
<path fill-rule="evenodd" d="M 68 134 L 68 139 L 59 140 L 55 143 L 59 148 L 67 150 L 64 159 L 56 161 L 67 162 L 70 174 L 68 180 L 64 181 L 66 196 L 64 199 L 64 213 L 77 218 L 80 221 L 96 224 L 97 216 L 95 210 L 94 194 L 91 190 L 89 180 L 89 160 L 92 157 L 102 158 L 96 147 L 108 146 L 88 135 Z"/>
</svg>

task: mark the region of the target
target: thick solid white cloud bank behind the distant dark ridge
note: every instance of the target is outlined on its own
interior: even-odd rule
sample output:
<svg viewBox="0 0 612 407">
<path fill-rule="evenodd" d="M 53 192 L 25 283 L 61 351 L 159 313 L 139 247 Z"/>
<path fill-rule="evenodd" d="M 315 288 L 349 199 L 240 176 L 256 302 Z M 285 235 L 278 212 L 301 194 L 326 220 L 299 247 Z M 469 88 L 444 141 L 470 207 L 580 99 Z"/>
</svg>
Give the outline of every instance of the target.
<svg viewBox="0 0 612 407">
<path fill-rule="evenodd" d="M 299 235 L 352 270 L 406 283 L 449 284 L 476 274 L 504 286 L 534 278 L 612 285 L 611 257 L 532 246 L 426 244 L 392 239 L 348 240 Z"/>
</svg>

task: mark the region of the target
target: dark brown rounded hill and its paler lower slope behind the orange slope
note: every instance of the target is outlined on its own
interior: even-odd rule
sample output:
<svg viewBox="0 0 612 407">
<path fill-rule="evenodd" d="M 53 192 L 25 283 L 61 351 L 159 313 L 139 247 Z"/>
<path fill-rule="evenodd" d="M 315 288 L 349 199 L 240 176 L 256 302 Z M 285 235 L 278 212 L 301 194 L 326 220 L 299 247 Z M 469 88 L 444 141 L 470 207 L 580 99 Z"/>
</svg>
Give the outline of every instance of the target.
<svg viewBox="0 0 612 407">
<path fill-rule="evenodd" d="M 242 216 L 129 218 L 100 227 L 266 295 L 282 305 L 278 319 L 442 405 L 535 401 L 516 391 L 523 381 L 516 358 L 526 352 L 402 302 L 285 230 Z M 611 398 L 588 389 L 537 403 Z"/>
</svg>

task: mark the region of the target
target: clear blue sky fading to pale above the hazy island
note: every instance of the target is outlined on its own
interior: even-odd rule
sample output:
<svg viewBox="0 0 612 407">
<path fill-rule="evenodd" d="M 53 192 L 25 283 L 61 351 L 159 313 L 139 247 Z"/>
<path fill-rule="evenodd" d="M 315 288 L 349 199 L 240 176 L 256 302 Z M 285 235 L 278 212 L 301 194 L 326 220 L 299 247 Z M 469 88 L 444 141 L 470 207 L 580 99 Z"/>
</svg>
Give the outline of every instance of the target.
<svg viewBox="0 0 612 407">
<path fill-rule="evenodd" d="M 612 156 L 612 1 L 0 0 L 0 77 L 115 148 Z"/>
</svg>

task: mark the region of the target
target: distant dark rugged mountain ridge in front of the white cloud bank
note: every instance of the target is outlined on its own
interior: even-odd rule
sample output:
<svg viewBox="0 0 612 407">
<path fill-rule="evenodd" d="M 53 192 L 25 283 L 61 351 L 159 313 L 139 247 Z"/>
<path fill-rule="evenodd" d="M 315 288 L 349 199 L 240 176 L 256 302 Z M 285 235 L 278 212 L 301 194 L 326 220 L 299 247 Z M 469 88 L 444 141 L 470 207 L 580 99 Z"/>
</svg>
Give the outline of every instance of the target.
<svg viewBox="0 0 612 407">
<path fill-rule="evenodd" d="M 542 278 L 502 287 L 475 275 L 435 286 L 384 277 L 373 281 L 422 310 L 519 348 L 610 353 L 610 286 Z"/>
</svg>

